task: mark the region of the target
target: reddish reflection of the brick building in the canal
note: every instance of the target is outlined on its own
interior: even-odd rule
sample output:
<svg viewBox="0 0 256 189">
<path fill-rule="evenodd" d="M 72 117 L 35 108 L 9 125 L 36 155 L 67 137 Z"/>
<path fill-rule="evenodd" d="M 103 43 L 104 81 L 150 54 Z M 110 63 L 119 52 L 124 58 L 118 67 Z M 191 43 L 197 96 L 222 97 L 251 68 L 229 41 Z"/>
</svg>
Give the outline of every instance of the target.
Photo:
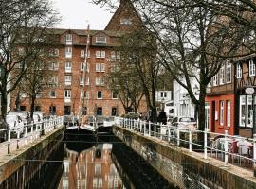
<svg viewBox="0 0 256 189">
<path fill-rule="evenodd" d="M 93 146 L 81 153 L 66 149 L 59 189 L 122 188 L 111 150 L 111 144 Z"/>
</svg>

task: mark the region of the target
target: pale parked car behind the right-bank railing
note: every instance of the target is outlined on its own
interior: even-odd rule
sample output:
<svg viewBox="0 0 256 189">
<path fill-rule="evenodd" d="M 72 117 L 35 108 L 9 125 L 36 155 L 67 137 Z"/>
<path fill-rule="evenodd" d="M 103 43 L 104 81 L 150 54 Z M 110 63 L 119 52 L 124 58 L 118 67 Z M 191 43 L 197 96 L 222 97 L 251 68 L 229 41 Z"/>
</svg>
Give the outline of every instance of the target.
<svg viewBox="0 0 256 189">
<path fill-rule="evenodd" d="M 174 117 L 171 125 L 178 129 L 197 129 L 197 124 L 193 117 Z"/>
</svg>

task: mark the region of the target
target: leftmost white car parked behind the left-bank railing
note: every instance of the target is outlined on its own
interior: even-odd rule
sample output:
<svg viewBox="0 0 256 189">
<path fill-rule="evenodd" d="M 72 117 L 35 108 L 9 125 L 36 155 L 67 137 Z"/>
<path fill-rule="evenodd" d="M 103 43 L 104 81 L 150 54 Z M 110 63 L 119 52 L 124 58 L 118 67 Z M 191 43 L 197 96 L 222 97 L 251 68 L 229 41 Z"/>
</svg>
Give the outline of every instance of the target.
<svg viewBox="0 0 256 189">
<path fill-rule="evenodd" d="M 19 115 L 8 114 L 6 116 L 6 121 L 9 129 L 14 130 L 16 133 L 20 131 L 20 133 L 24 132 L 24 123 L 22 118 Z"/>
</svg>

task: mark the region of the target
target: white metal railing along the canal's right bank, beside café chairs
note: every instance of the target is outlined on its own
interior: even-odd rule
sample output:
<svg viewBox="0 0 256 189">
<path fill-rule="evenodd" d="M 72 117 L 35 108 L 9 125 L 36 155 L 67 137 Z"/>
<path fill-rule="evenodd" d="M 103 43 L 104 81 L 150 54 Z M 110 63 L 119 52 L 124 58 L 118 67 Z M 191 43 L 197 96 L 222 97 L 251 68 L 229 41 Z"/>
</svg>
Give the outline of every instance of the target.
<svg viewBox="0 0 256 189">
<path fill-rule="evenodd" d="M 219 159 L 225 166 L 229 163 L 253 169 L 256 163 L 256 135 L 254 138 L 233 136 L 225 133 L 210 132 L 208 129 L 186 129 L 163 125 L 160 123 L 133 120 L 118 117 L 116 125 L 132 129 L 144 136 L 188 148 L 190 152 L 196 151 L 203 154 L 204 159 L 209 157 Z"/>
</svg>

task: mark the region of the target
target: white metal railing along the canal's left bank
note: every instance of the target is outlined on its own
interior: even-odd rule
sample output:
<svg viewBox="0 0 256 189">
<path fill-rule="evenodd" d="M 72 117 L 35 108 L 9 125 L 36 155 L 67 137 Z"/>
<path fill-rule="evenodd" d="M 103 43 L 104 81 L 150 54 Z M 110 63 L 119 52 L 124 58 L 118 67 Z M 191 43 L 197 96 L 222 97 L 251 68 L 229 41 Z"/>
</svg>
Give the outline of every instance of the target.
<svg viewBox="0 0 256 189">
<path fill-rule="evenodd" d="M 0 149 L 7 149 L 7 153 L 19 149 L 20 146 L 32 143 L 53 129 L 63 126 L 63 117 L 52 117 L 41 122 L 29 124 L 18 123 L 14 129 L 0 129 L 0 135 L 7 142 L 0 143 Z"/>
</svg>

